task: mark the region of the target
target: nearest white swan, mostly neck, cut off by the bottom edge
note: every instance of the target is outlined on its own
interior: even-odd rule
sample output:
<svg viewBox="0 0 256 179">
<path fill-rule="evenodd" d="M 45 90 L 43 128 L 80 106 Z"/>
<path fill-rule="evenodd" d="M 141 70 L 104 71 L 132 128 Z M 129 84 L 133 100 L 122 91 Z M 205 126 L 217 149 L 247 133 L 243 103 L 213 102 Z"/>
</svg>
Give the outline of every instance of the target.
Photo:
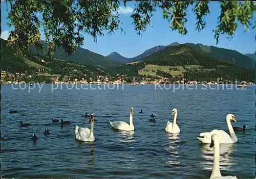
<svg viewBox="0 0 256 179">
<path fill-rule="evenodd" d="M 220 171 L 220 138 L 217 134 L 211 136 L 210 147 L 214 146 L 214 166 L 212 167 L 212 172 L 210 179 L 238 179 L 237 176 L 221 176 Z"/>
</svg>

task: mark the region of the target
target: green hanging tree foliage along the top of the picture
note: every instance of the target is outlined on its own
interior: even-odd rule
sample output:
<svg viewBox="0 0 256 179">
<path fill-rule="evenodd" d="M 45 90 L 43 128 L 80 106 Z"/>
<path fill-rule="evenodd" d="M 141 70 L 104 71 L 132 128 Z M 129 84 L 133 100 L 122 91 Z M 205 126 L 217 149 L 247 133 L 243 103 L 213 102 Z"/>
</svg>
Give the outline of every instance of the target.
<svg viewBox="0 0 256 179">
<path fill-rule="evenodd" d="M 124 1 L 124 6 L 127 1 Z M 151 17 L 156 10 L 163 11 L 163 18 L 167 19 L 170 28 L 185 35 L 186 11 L 193 6 L 196 15 L 196 30 L 204 29 L 206 22 L 204 17 L 210 13 L 209 1 L 136 1 L 135 9 L 131 17 L 138 35 L 141 35 L 150 25 Z M 218 26 L 215 39 L 219 40 L 221 34 L 232 37 L 237 30 L 238 23 L 247 30 L 252 25 L 254 2 L 244 1 L 220 1 L 221 14 L 218 18 Z M 70 55 L 76 46 L 83 44 L 83 33 L 90 34 L 95 41 L 97 36 L 106 32 L 114 33 L 120 28 L 118 8 L 119 1 L 6 1 L 10 4 L 8 11 L 9 25 L 15 30 L 10 32 L 9 44 L 16 47 L 17 53 L 26 55 L 31 45 L 44 52 L 41 44 L 39 28 L 43 29 L 48 44 L 46 53 L 52 56 L 56 47 L 62 46 Z M 39 19 L 36 14 L 42 14 Z M 253 22 L 253 28 L 255 22 Z M 121 29 L 122 30 L 122 29 Z"/>
</svg>

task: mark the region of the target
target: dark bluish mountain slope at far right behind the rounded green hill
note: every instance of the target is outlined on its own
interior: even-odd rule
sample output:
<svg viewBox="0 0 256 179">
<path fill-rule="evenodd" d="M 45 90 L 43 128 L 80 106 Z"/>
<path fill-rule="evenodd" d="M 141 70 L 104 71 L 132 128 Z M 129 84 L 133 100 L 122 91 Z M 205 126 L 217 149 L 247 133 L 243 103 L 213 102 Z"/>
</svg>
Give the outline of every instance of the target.
<svg viewBox="0 0 256 179">
<path fill-rule="evenodd" d="M 224 60 L 229 63 L 236 64 L 241 67 L 255 69 L 255 61 L 250 59 L 249 57 L 237 52 L 236 50 L 226 49 L 226 48 L 219 48 L 216 46 L 207 46 L 202 45 L 200 43 L 185 43 L 193 47 L 200 53 L 208 54 L 214 59 Z"/>
</svg>

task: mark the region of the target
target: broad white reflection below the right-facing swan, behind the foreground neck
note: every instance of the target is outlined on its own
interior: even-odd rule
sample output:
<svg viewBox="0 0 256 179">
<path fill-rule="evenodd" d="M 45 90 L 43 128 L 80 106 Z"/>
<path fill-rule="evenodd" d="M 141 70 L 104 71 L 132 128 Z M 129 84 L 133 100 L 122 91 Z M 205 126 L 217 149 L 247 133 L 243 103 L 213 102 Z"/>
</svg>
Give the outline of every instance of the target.
<svg viewBox="0 0 256 179">
<path fill-rule="evenodd" d="M 204 162 L 201 165 L 206 170 L 212 170 L 214 164 L 214 147 L 210 148 L 209 144 L 204 144 L 201 147 Z M 238 163 L 232 162 L 231 154 L 234 150 L 233 144 L 220 144 L 220 169 L 226 171 L 232 171 L 232 165 Z"/>
</svg>

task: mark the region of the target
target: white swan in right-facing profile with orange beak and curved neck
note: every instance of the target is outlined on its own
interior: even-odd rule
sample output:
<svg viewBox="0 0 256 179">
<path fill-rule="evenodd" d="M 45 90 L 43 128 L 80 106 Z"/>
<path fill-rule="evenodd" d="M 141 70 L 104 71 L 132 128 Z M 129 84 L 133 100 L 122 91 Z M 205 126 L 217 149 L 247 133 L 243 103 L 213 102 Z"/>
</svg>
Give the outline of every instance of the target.
<svg viewBox="0 0 256 179">
<path fill-rule="evenodd" d="M 236 143 L 238 141 L 238 138 L 234 133 L 230 120 L 237 122 L 233 114 L 227 114 L 226 122 L 230 136 L 223 130 L 212 130 L 211 132 L 200 133 L 200 136 L 203 136 L 203 138 L 197 137 L 197 139 L 200 140 L 202 143 L 209 144 L 211 143 L 211 136 L 217 134 L 220 138 L 221 144 Z"/>
</svg>

